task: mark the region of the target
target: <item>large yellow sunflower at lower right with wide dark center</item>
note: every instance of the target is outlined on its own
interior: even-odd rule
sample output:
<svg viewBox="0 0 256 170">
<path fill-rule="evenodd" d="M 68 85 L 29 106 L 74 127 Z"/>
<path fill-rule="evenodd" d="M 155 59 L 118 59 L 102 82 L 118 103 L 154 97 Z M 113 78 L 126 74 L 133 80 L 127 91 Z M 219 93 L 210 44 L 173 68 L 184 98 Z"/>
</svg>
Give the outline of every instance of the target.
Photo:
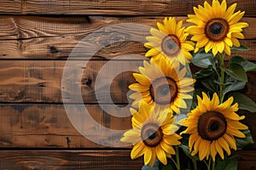
<svg viewBox="0 0 256 170">
<path fill-rule="evenodd" d="M 245 138 L 240 130 L 247 126 L 239 122 L 245 116 L 238 116 L 237 103 L 232 105 L 233 97 L 219 105 L 218 95 L 213 94 L 212 100 L 203 93 L 197 96 L 198 106 L 188 114 L 183 126 L 188 127 L 183 133 L 189 133 L 189 150 L 192 156 L 199 152 L 200 160 L 218 154 L 224 159 L 224 150 L 230 155 L 230 148 L 236 150 L 236 139 Z"/>
</svg>

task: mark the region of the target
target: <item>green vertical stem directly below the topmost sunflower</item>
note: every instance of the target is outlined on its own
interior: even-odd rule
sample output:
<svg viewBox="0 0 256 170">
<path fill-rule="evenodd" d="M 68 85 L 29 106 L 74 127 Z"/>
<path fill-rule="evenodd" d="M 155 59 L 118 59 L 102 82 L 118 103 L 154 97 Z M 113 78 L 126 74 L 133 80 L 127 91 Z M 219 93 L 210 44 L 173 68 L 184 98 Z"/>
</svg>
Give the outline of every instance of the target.
<svg viewBox="0 0 256 170">
<path fill-rule="evenodd" d="M 224 54 L 218 54 L 220 62 L 220 77 L 219 77 L 219 98 L 222 103 L 224 100 Z"/>
</svg>

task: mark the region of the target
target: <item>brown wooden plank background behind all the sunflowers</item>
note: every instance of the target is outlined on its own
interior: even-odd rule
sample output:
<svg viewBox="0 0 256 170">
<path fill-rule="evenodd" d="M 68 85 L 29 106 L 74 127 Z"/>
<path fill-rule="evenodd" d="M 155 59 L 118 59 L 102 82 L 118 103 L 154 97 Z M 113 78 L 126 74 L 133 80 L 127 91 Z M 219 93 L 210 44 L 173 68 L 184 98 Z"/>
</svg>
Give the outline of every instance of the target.
<svg viewBox="0 0 256 170">
<path fill-rule="evenodd" d="M 211 1 L 209 1 L 211 2 Z M 202 0 L 2 0 L 0 2 L 0 169 L 140 169 L 143 159 L 130 159 L 131 147 L 111 148 L 84 138 L 67 118 L 61 99 L 61 76 L 68 55 L 93 31 L 119 23 L 156 26 L 165 16 L 186 20 L 192 7 Z M 256 0 L 228 0 L 245 10 L 242 19 L 249 23 L 241 43 L 250 51 L 237 52 L 256 61 Z M 120 54 L 145 54 L 144 38 L 137 28 L 124 31 L 126 42 L 115 42 L 99 50 L 84 69 L 84 103 L 90 115 L 102 126 L 112 129 L 131 127 L 131 117 L 118 118 L 102 111 L 96 100 L 97 72 L 109 59 Z M 126 32 L 127 31 L 127 32 Z M 114 35 L 109 34 L 108 38 Z M 108 41 L 108 39 L 106 40 Z M 113 41 L 114 42 L 114 41 Z M 86 48 L 86 47 L 84 47 Z M 87 49 L 90 50 L 90 49 Z M 141 61 L 111 61 L 142 65 Z M 114 68 L 113 68 L 114 69 Z M 108 75 L 108 72 L 106 72 Z M 256 101 L 256 73 L 248 73 L 244 90 Z M 111 83 L 111 97 L 119 107 L 127 105 L 127 86 L 134 82 L 131 72 L 123 72 Z M 104 87 L 104 84 L 102 85 Z M 103 88 L 104 89 L 104 88 Z M 102 90 L 102 96 L 107 95 Z M 73 104 L 70 105 L 83 105 Z M 107 105 L 108 103 L 102 103 Z M 247 111 L 245 123 L 256 139 L 256 115 Z M 99 137 L 101 138 L 101 137 Z M 103 140 L 104 137 L 102 137 Z M 104 141 L 113 144 L 113 140 Z M 256 168 L 256 144 L 237 151 L 239 169 Z"/>
</svg>

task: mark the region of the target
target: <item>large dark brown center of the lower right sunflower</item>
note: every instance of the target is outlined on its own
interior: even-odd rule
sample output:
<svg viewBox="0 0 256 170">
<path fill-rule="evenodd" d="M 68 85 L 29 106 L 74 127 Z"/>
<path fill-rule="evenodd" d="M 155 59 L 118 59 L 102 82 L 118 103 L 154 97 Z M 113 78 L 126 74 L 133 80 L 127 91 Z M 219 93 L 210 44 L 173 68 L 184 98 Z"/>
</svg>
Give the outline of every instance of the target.
<svg viewBox="0 0 256 170">
<path fill-rule="evenodd" d="M 225 117 L 217 111 L 207 111 L 198 120 L 197 131 L 202 139 L 216 140 L 226 133 Z"/>
</svg>

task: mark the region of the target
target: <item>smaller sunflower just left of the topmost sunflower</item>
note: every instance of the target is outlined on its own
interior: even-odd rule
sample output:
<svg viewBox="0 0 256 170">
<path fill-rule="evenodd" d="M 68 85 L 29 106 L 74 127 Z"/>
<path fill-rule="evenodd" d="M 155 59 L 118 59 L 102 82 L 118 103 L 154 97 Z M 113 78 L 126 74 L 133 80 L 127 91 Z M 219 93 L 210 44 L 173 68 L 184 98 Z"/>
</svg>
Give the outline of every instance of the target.
<svg viewBox="0 0 256 170">
<path fill-rule="evenodd" d="M 151 59 L 159 59 L 161 57 L 177 58 L 183 65 L 192 55 L 189 51 L 194 50 L 194 43 L 186 41 L 189 36 L 184 33 L 183 21 L 176 22 L 175 18 L 165 18 L 164 23 L 157 23 L 158 29 L 152 28 L 150 33 L 152 37 L 147 37 L 148 42 L 144 44 L 146 48 L 150 48 L 145 54 Z"/>
</svg>

